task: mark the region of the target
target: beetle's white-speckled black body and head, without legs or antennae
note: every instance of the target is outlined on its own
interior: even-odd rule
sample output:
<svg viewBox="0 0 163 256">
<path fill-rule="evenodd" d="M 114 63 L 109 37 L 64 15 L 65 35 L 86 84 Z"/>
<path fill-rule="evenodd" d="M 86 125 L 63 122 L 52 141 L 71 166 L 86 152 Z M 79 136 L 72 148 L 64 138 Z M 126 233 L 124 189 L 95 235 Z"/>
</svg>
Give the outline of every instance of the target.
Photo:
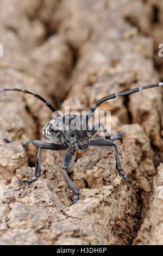
<svg viewBox="0 0 163 256">
<path fill-rule="evenodd" d="M 83 122 L 83 115 L 53 118 L 43 127 L 42 133 L 53 143 L 67 145 L 68 148 L 86 149 L 90 144 L 91 133 Z"/>
</svg>

